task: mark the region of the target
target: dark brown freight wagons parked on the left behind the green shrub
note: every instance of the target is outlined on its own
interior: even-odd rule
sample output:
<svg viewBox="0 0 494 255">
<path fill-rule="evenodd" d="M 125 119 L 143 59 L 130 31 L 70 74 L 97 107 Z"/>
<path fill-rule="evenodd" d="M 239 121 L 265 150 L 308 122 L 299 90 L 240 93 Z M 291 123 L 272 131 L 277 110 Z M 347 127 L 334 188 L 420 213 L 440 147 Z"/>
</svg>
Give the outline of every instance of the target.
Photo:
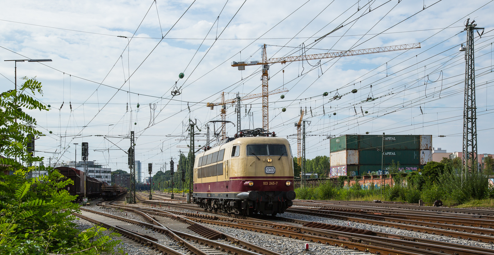
<svg viewBox="0 0 494 255">
<path fill-rule="evenodd" d="M 72 196 L 77 196 L 76 201 L 84 197 L 84 172 L 75 168 L 57 167 L 55 168 L 61 174 L 74 181 L 64 187 Z M 126 188 L 109 186 L 106 182 L 86 176 L 86 196 L 89 199 L 103 197 L 105 200 L 115 199 L 121 194 L 127 192 Z"/>
</svg>

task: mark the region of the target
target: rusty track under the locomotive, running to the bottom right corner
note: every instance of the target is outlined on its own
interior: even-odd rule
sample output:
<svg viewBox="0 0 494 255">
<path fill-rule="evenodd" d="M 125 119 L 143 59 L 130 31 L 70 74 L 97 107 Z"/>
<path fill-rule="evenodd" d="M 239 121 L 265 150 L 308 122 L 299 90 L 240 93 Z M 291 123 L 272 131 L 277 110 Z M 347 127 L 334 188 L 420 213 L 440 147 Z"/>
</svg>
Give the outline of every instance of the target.
<svg viewBox="0 0 494 255">
<path fill-rule="evenodd" d="M 161 203 L 161 202 L 160 202 Z M 167 203 L 170 204 L 170 203 Z M 179 207 L 190 210 L 200 210 L 198 207 L 190 205 L 176 205 L 171 204 L 169 206 Z M 139 210 L 145 210 L 149 213 L 159 214 L 160 211 L 156 208 L 141 208 Z M 494 251 L 486 248 L 472 247 L 468 245 L 453 244 L 448 242 L 436 241 L 431 239 L 413 238 L 410 236 L 394 235 L 382 232 L 364 231 L 362 229 L 342 229 L 340 226 L 334 226 L 324 223 L 316 223 L 303 220 L 294 220 L 283 217 L 272 217 L 270 220 L 248 218 L 237 215 L 230 215 L 223 213 L 225 217 L 218 217 L 212 215 L 204 215 L 197 213 L 181 213 L 185 217 L 191 220 L 199 221 L 203 223 L 220 225 L 224 227 L 233 227 L 248 231 L 270 233 L 278 236 L 287 236 L 290 238 L 296 238 L 303 241 L 310 241 L 314 243 L 323 243 L 329 245 L 337 245 L 339 247 L 348 248 L 352 247 L 354 250 L 372 252 L 376 254 L 386 254 L 386 249 L 394 250 L 393 254 L 397 251 L 412 254 L 438 254 L 446 253 L 452 255 L 468 255 L 468 254 L 492 254 Z M 216 213 L 221 214 L 221 213 Z M 232 218 L 234 217 L 234 218 Z M 283 221 L 291 221 L 291 225 L 280 223 Z M 294 223 L 294 225 L 293 225 Z M 340 231 L 331 231 L 330 228 L 339 227 Z M 326 229 L 324 229 L 326 228 Z M 346 232 L 345 232 L 346 231 Z M 359 233 L 358 231 L 361 231 Z M 351 233 L 353 232 L 353 233 Z M 366 246 L 367 245 L 367 246 Z M 370 250 L 368 246 L 372 246 L 374 250 Z M 377 248 L 376 247 L 380 247 Z M 379 250 L 380 249 L 380 250 Z M 384 253 L 383 253 L 384 252 Z"/>
</svg>

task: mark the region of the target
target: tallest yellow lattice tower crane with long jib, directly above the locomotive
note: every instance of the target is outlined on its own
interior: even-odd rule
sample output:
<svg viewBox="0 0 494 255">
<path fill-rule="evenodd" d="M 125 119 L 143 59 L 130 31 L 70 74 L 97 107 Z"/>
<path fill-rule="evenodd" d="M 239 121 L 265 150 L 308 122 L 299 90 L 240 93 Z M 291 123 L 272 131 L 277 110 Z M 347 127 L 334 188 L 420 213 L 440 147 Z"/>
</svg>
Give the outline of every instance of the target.
<svg viewBox="0 0 494 255">
<path fill-rule="evenodd" d="M 262 65 L 262 75 L 261 75 L 261 80 L 262 80 L 262 128 L 269 130 L 269 115 L 268 115 L 268 113 L 269 113 L 269 106 L 268 106 L 268 103 L 269 103 L 269 100 L 268 100 L 268 98 L 269 98 L 269 91 L 268 91 L 269 64 L 274 64 L 274 63 L 286 64 L 287 62 L 293 62 L 293 61 L 355 56 L 355 55 L 362 55 L 362 54 L 388 52 L 388 51 L 414 49 L 414 48 L 420 48 L 420 43 L 402 44 L 402 45 L 385 46 L 385 47 L 377 47 L 377 48 L 369 48 L 369 49 L 347 50 L 347 51 L 338 51 L 338 52 L 330 52 L 330 53 L 322 53 L 322 54 L 312 54 L 312 55 L 301 55 L 301 56 L 291 56 L 291 57 L 280 57 L 280 58 L 267 59 L 266 44 L 264 44 L 262 47 L 262 60 L 261 61 L 232 62 L 232 66 L 233 67 L 238 66 L 239 70 L 245 70 L 246 66 Z"/>
</svg>

